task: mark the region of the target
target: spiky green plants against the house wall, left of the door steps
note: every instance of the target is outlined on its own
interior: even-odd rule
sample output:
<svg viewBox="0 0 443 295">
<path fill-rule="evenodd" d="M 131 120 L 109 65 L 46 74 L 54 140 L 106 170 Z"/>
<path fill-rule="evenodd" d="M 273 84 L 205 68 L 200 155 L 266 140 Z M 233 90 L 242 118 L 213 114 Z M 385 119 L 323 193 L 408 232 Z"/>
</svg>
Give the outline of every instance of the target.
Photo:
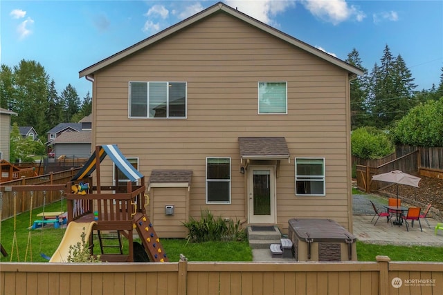
<svg viewBox="0 0 443 295">
<path fill-rule="evenodd" d="M 215 217 L 209 210 L 200 212 L 200 220 L 190 217 L 188 222 L 182 222 L 188 229 L 188 242 L 208 242 L 226 240 L 244 240 L 246 233 L 239 220 L 225 222 L 221 216 Z"/>
</svg>

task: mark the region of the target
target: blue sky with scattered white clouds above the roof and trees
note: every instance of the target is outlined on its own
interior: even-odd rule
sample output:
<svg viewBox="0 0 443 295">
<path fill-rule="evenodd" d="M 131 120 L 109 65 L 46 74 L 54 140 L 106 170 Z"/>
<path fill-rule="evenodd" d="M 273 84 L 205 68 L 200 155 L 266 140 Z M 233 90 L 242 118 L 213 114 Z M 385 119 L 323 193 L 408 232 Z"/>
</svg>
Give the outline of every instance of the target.
<svg viewBox="0 0 443 295">
<path fill-rule="evenodd" d="M 91 82 L 78 72 L 217 1 L 0 1 L 1 64 L 38 61 L 57 91 L 80 98 Z M 340 59 L 352 48 L 370 71 L 388 44 L 417 90 L 440 82 L 443 1 L 228 0 L 232 7 Z"/>
</svg>

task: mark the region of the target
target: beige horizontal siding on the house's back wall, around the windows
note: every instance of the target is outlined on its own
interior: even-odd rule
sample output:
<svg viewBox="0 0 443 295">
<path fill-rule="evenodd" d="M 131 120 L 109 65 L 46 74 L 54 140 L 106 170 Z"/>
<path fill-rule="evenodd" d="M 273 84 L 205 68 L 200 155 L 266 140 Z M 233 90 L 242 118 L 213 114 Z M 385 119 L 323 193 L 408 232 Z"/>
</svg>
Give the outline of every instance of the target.
<svg viewBox="0 0 443 295">
<path fill-rule="evenodd" d="M 153 169 L 190 169 L 190 215 L 201 209 L 246 218 L 246 182 L 237 137 L 285 137 L 291 162 L 277 179 L 278 222 L 334 218 L 351 227 L 348 73 L 217 14 L 117 61 L 94 75 L 96 144 L 118 144 L 126 157 Z M 187 119 L 128 119 L 129 82 L 187 82 Z M 287 82 L 288 114 L 258 115 L 257 83 Z M 232 159 L 232 204 L 206 204 L 206 157 Z M 326 196 L 295 196 L 294 158 L 325 158 Z M 111 166 L 102 178 L 111 179 Z M 154 209 L 155 210 L 155 209 Z"/>
</svg>

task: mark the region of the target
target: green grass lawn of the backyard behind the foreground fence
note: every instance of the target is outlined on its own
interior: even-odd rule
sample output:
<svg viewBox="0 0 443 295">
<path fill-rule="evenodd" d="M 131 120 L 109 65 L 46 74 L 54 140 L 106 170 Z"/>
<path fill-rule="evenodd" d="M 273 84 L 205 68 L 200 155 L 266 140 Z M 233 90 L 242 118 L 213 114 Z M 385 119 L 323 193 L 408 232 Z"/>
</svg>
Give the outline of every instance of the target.
<svg viewBox="0 0 443 295">
<path fill-rule="evenodd" d="M 60 206 L 60 202 L 46 205 L 45 211 L 66 210 Z M 33 210 L 33 216 L 29 213 L 22 213 L 14 218 L 1 222 L 0 242 L 1 245 L 12 255 L 12 261 L 24 262 L 47 262 L 40 254 L 51 256 L 57 249 L 63 238 L 65 229 L 44 229 L 28 230 L 30 222 L 37 220 L 37 213 L 42 212 L 42 208 Z M 14 223 L 16 230 L 14 231 Z M 12 250 L 12 242 L 16 237 Z M 127 241 L 126 239 L 123 239 Z M 28 242 L 30 241 L 30 242 Z M 200 244 L 187 243 L 184 239 L 162 239 L 161 243 L 170 261 L 178 261 L 179 254 L 185 255 L 190 261 L 252 261 L 252 250 L 248 242 L 204 242 Z M 94 253 L 97 254 L 98 242 L 94 242 Z M 422 246 L 393 246 L 393 245 L 371 245 L 357 242 L 357 256 L 359 261 L 375 261 L 375 256 L 386 255 L 394 261 L 443 261 L 443 247 L 422 247 Z M 28 248 L 28 253 L 26 249 Z M 123 246 L 127 250 L 127 242 Z M 19 255 L 17 255 L 17 252 Z M 9 262 L 11 256 L 0 256 L 1 262 Z"/>
</svg>

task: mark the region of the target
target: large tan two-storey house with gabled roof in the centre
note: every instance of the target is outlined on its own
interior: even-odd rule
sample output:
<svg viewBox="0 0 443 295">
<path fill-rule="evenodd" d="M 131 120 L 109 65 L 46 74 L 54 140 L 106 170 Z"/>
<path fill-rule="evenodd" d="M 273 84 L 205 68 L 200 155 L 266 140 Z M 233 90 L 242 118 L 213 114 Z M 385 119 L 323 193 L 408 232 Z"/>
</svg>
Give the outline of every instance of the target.
<svg viewBox="0 0 443 295">
<path fill-rule="evenodd" d="M 149 179 L 161 237 L 186 236 L 181 222 L 204 209 L 285 232 L 291 218 L 352 231 L 361 74 L 224 3 L 80 71 L 93 83 L 93 146 L 118 144 Z M 102 185 L 116 171 L 102 164 Z"/>
</svg>

